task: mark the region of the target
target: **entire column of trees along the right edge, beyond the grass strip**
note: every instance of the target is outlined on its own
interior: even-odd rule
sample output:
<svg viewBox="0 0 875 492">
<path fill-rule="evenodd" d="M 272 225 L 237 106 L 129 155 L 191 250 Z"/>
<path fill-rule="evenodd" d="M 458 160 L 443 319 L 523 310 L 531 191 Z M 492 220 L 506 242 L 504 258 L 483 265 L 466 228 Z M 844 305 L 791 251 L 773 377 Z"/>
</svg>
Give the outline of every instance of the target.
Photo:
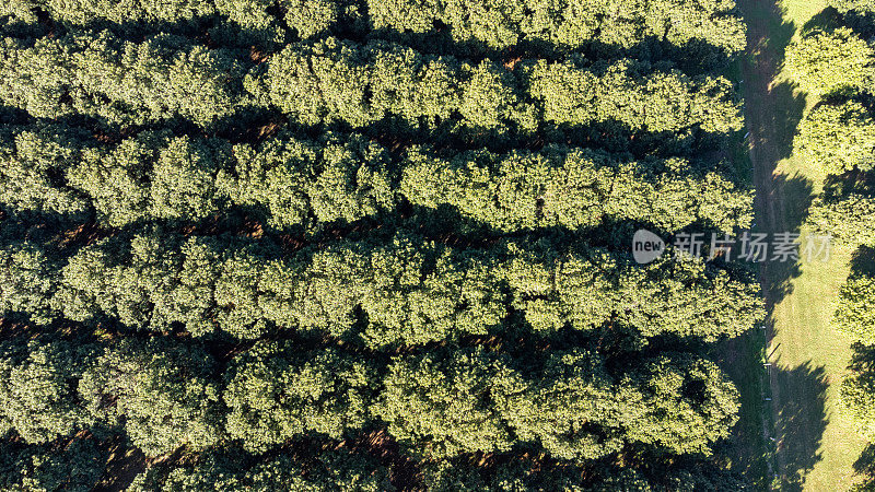
<svg viewBox="0 0 875 492">
<path fill-rule="evenodd" d="M 875 4 L 840 0 L 821 12 L 822 25 L 788 47 L 786 65 L 801 89 L 819 98 L 800 125 L 794 151 L 827 175 L 812 203 L 808 225 L 840 246 L 855 248 L 851 273 L 839 291 L 833 326 L 851 338 L 854 356 L 839 389 L 840 409 L 867 440 L 875 438 Z M 868 17 L 868 21 L 864 21 Z M 871 459 L 871 458 L 870 458 Z M 871 469 L 861 457 L 854 468 Z M 854 490 L 873 490 L 870 480 Z"/>
</svg>

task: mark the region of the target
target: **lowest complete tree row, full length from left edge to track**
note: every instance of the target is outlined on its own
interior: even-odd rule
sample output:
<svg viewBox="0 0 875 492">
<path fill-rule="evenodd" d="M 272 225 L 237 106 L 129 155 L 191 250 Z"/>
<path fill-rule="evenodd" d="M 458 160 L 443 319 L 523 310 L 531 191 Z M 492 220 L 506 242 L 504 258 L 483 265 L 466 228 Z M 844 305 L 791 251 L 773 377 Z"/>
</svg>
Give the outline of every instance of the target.
<svg viewBox="0 0 875 492">
<path fill-rule="evenodd" d="M 409 455 L 430 459 L 525 445 L 587 460 L 630 443 L 709 455 L 737 419 L 738 393 L 726 376 L 680 353 L 643 358 L 614 375 L 586 351 L 547 352 L 540 366 L 518 368 L 482 348 L 439 349 L 381 367 L 330 349 L 266 342 L 222 367 L 199 344 L 168 339 L 1 348 L 2 434 L 45 444 L 101 422 L 124 429 L 147 456 L 229 441 L 266 452 L 306 435 L 342 440 L 381 422 Z"/>
</svg>

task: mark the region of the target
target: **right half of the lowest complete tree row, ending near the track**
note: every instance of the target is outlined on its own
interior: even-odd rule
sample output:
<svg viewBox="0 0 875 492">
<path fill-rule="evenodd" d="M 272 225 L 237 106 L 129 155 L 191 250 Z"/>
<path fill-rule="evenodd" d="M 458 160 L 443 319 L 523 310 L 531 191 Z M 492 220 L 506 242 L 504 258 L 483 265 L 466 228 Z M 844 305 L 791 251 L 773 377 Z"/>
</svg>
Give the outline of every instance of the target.
<svg viewBox="0 0 875 492">
<path fill-rule="evenodd" d="M 480 349 L 397 359 L 375 412 L 429 458 L 506 452 L 516 436 L 555 458 L 592 460 L 641 443 L 711 453 L 737 420 L 738 391 L 712 362 L 670 354 L 612 378 L 583 352 L 553 353 L 529 376 Z"/>
</svg>

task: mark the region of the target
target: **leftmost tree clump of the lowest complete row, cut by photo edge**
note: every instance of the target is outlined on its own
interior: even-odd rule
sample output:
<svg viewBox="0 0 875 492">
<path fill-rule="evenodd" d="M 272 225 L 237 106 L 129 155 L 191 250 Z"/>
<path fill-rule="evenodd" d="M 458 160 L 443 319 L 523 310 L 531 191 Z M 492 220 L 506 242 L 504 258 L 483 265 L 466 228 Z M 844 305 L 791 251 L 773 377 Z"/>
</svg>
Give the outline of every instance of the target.
<svg viewBox="0 0 875 492">
<path fill-rule="evenodd" d="M 89 352 L 66 342 L 0 344 L 0 434 L 14 430 L 26 443 L 43 444 L 88 427 L 75 388 Z"/>
</svg>

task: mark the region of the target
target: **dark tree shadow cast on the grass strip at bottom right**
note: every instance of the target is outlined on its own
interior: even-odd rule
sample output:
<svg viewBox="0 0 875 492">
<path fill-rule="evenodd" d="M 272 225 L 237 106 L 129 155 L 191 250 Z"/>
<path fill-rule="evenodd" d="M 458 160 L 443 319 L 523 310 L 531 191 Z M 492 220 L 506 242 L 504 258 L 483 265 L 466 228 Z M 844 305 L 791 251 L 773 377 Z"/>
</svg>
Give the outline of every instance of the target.
<svg viewBox="0 0 875 492">
<path fill-rule="evenodd" d="M 827 375 L 824 366 L 813 366 L 808 361 L 791 370 L 778 370 L 775 361 L 772 384 L 785 391 L 772 402 L 774 430 L 780 465 L 781 490 L 802 491 L 805 477 L 820 461 L 818 452 L 824 430 L 829 422 L 826 414 Z"/>
</svg>

